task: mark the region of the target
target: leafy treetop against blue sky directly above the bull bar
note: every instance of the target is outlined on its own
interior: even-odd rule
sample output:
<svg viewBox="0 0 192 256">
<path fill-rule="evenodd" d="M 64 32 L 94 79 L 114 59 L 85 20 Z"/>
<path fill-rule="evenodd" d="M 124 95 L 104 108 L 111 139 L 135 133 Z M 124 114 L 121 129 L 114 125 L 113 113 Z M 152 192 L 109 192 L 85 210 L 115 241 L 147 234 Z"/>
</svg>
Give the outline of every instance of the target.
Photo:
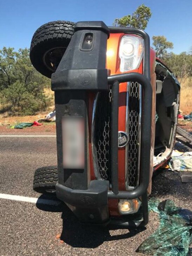
<svg viewBox="0 0 192 256">
<path fill-rule="evenodd" d="M 122 18 L 115 19 L 113 25 L 117 27 L 135 27 L 145 29 L 151 15 L 151 9 L 142 4 L 133 14 L 128 14 Z"/>
</svg>

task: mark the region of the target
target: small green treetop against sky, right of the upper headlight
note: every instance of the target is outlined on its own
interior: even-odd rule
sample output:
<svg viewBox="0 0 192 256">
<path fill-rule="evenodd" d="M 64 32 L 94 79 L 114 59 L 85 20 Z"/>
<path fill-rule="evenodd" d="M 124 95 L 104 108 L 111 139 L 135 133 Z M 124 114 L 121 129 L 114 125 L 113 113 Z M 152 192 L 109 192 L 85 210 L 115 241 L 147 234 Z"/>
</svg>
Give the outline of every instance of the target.
<svg viewBox="0 0 192 256">
<path fill-rule="evenodd" d="M 166 58 L 167 50 L 173 48 L 173 43 L 167 41 L 164 35 L 153 36 L 153 46 L 158 58 Z"/>
</svg>

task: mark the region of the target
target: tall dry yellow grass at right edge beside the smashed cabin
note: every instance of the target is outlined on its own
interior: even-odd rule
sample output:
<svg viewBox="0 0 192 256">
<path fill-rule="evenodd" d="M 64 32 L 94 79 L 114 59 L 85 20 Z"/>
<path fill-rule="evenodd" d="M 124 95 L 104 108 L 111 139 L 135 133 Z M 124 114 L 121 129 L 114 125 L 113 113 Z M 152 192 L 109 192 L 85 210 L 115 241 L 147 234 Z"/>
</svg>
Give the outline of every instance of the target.
<svg viewBox="0 0 192 256">
<path fill-rule="evenodd" d="M 182 114 L 192 112 L 192 77 L 181 82 L 180 110 Z"/>
</svg>

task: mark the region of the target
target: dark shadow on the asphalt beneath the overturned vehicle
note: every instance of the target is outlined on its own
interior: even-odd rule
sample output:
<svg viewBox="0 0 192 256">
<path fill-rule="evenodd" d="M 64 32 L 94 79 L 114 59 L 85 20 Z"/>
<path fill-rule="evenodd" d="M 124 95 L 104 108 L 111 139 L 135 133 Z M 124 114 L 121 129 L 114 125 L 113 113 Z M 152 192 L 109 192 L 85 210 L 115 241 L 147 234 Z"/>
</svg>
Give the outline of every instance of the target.
<svg viewBox="0 0 192 256">
<path fill-rule="evenodd" d="M 53 200 L 54 198 L 59 202 L 54 195 L 41 195 L 39 197 L 39 199 L 45 200 Z M 56 205 L 47 205 L 38 203 L 37 201 L 36 206 L 43 211 L 61 212 L 63 223 L 60 239 L 72 247 L 96 248 L 106 241 L 130 238 L 146 229 L 145 227 L 137 229 L 126 228 L 126 231 L 118 232 L 118 234 L 115 232 L 115 235 L 111 235 L 111 230 L 119 229 L 118 226 L 112 226 L 109 224 L 107 227 L 101 227 L 81 224 L 72 211 L 69 210 L 69 208 L 62 202 L 59 202 Z"/>
</svg>

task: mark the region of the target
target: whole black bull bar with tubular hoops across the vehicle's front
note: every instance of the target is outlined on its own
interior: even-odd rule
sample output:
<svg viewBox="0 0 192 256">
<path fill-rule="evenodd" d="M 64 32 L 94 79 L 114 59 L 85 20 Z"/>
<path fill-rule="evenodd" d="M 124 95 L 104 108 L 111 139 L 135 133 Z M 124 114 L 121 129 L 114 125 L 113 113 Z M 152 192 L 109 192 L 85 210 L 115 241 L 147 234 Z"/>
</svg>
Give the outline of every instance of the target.
<svg viewBox="0 0 192 256">
<path fill-rule="evenodd" d="M 124 73 L 107 77 L 105 70 L 106 57 L 103 55 L 102 60 L 98 58 L 97 63 L 92 65 L 90 70 L 89 63 L 74 65 L 74 61 L 66 65 L 66 60 L 69 58 L 69 52 L 79 51 L 74 44 L 77 44 L 77 39 L 83 40 L 86 33 L 92 35 L 95 45 L 103 50 L 106 54 L 106 41 L 110 33 L 127 33 L 136 34 L 144 39 L 144 59 L 143 59 L 143 74 L 139 73 Z M 76 38 L 75 38 L 76 34 Z M 64 54 L 57 71 L 52 75 L 52 90 L 55 91 L 55 110 L 56 110 L 56 125 L 57 125 L 57 151 L 58 151 L 58 171 L 59 179 L 56 185 L 57 197 L 68 204 L 75 215 L 82 222 L 103 223 L 108 219 L 108 198 L 117 199 L 134 199 L 142 198 L 143 224 L 148 223 L 148 200 L 147 188 L 150 177 L 150 151 L 151 151 L 151 109 L 152 109 L 152 87 L 150 83 L 150 40 L 148 35 L 135 28 L 116 28 L 107 27 L 103 22 L 78 22 L 75 28 L 75 33 L 72 37 L 74 40 L 70 42 Z M 96 40 L 99 38 L 99 42 Z M 104 47 L 104 49 L 101 49 Z M 80 43 L 82 48 L 84 43 Z M 86 46 L 87 47 L 87 46 Z M 96 47 L 97 48 L 97 47 Z M 83 49 L 80 49 L 84 52 Z M 93 48 L 94 50 L 94 48 Z M 75 53 L 79 58 L 82 58 L 82 52 Z M 73 55 L 75 58 L 75 54 Z M 87 49 L 84 52 L 86 57 Z M 94 52 L 93 52 L 94 54 Z M 95 55 L 96 56 L 96 55 Z M 96 57 L 95 57 L 96 58 Z M 64 60 L 64 61 L 63 61 Z M 82 68 L 82 66 L 83 68 Z M 67 69 L 67 66 L 71 69 Z M 93 77 L 90 86 L 77 83 L 77 77 L 80 77 L 82 72 L 91 74 Z M 95 73 L 94 73 L 95 72 Z M 99 76 L 101 79 L 99 79 Z M 107 80 L 106 80 L 107 79 Z M 141 163 L 140 163 L 140 184 L 137 189 L 132 191 L 119 191 L 118 189 L 118 109 L 119 109 L 119 83 L 134 81 L 138 82 L 142 88 L 142 125 L 141 125 Z M 103 85 L 103 86 L 102 86 Z M 71 115 L 74 112 L 76 115 L 87 120 L 87 101 L 86 95 L 88 91 L 102 91 L 112 89 L 112 116 L 111 116 L 111 190 L 107 180 L 88 180 L 88 162 L 85 159 L 84 170 L 67 170 L 62 166 L 62 132 L 61 119 L 62 116 Z M 67 109 L 67 111 L 66 111 Z M 79 110 L 78 110 L 79 109 Z M 85 126 L 86 127 L 86 126 Z M 88 131 L 85 128 L 85 138 Z M 85 155 L 88 148 L 85 143 Z M 91 153 L 91 152 L 90 152 Z M 128 216 L 128 215 L 127 215 Z"/>
</svg>

